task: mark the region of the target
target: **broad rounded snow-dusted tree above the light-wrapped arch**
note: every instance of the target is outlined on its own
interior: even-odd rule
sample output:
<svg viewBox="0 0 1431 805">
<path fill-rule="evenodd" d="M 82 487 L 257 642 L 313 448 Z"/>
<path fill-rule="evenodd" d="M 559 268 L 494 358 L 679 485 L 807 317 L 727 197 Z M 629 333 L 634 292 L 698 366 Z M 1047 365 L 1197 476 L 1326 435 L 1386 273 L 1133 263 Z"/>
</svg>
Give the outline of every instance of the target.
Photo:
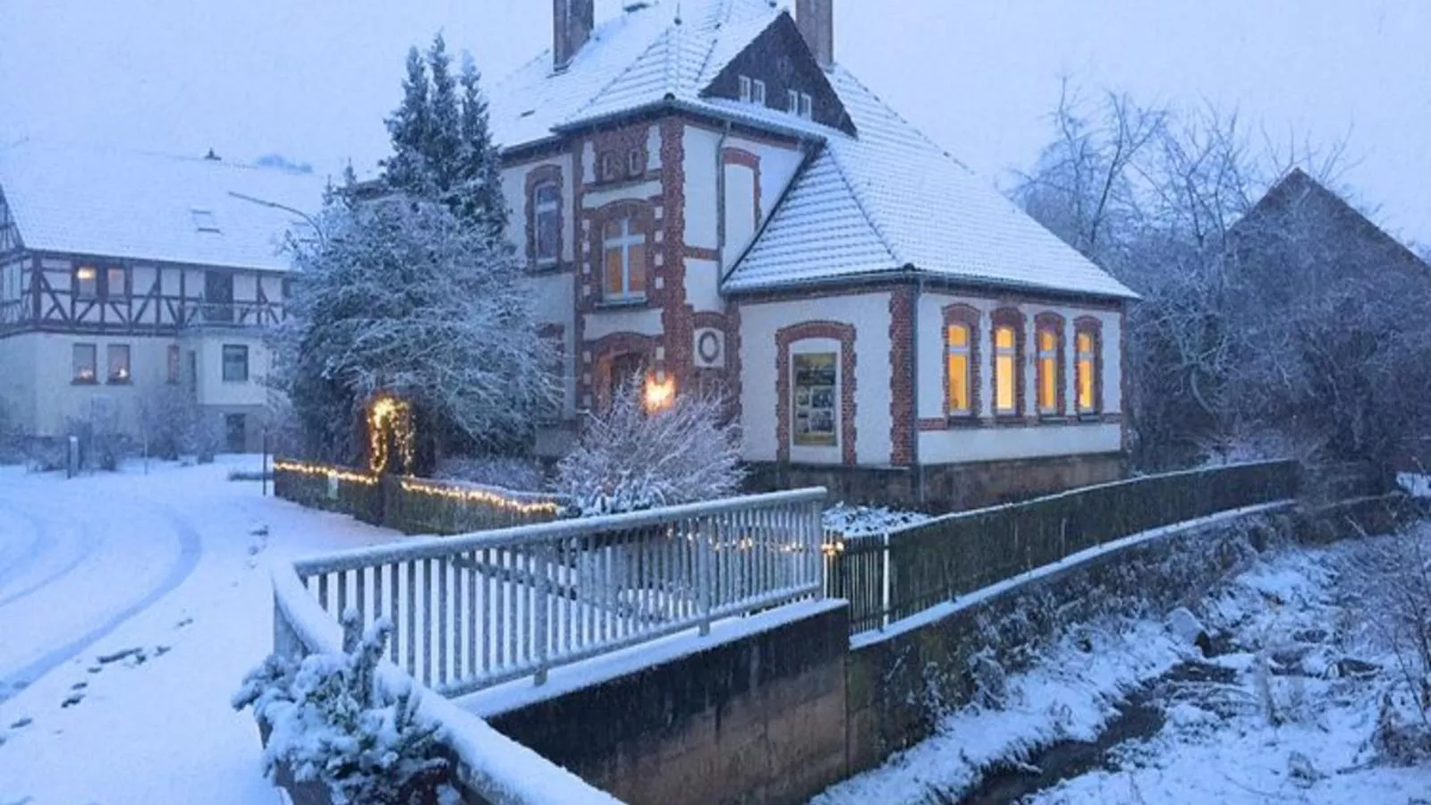
<svg viewBox="0 0 1431 805">
<path fill-rule="evenodd" d="M 511 249 L 406 195 L 339 193 L 319 223 L 326 236 L 296 254 L 278 372 L 309 453 L 358 460 L 355 424 L 379 391 L 412 403 L 438 451 L 521 443 L 552 361 Z"/>
</svg>

